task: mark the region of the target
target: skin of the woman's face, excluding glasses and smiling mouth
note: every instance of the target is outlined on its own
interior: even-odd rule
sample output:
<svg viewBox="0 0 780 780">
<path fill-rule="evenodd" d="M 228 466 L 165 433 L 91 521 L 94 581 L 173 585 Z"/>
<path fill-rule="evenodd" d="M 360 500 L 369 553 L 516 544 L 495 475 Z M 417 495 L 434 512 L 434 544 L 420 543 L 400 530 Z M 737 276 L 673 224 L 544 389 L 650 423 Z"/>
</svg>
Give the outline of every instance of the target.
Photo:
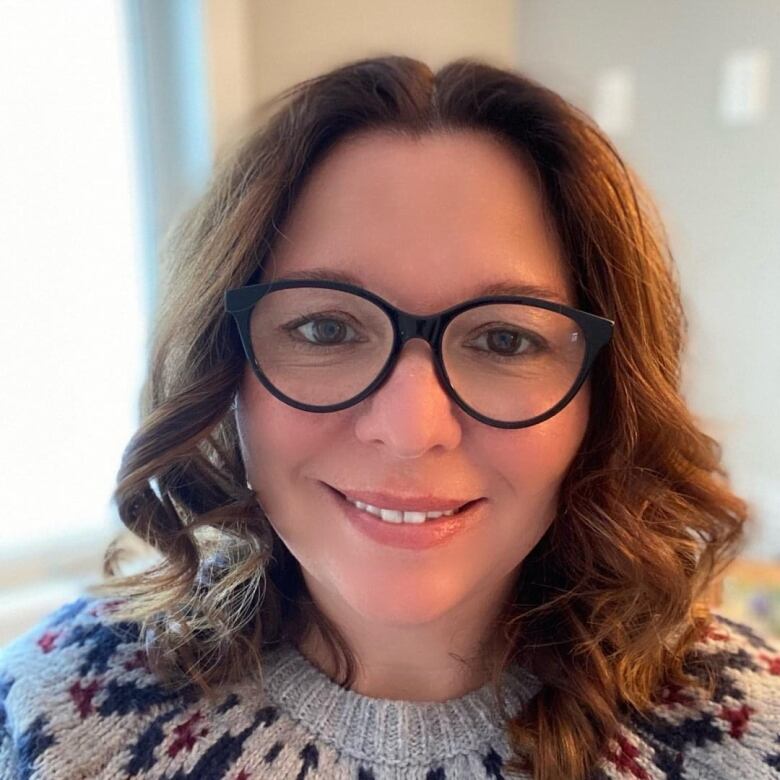
<svg viewBox="0 0 780 780">
<path fill-rule="evenodd" d="M 576 304 L 533 179 L 474 133 L 372 134 L 336 147 L 306 182 L 272 260 L 263 281 L 315 267 L 348 273 L 417 314 L 497 282 Z M 493 428 L 450 400 L 429 346 L 414 339 L 378 391 L 339 412 L 294 409 L 247 366 L 237 422 L 248 480 L 315 602 L 342 627 L 408 629 L 469 607 L 486 614 L 508 592 L 553 520 L 588 393 L 586 383 L 538 425 Z M 478 521 L 446 542 L 403 549 L 356 529 L 326 485 L 485 500 Z"/>
</svg>

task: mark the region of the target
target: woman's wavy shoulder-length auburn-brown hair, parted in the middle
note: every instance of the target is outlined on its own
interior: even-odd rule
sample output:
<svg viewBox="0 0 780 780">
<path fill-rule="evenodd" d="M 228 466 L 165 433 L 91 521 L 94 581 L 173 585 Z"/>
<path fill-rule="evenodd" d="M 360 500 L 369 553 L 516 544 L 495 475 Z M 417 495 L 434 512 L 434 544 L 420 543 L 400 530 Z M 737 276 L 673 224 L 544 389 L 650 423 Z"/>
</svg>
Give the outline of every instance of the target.
<svg viewBox="0 0 780 780">
<path fill-rule="evenodd" d="M 174 687 L 212 696 L 220 684 L 262 680 L 264 651 L 298 644 L 314 626 L 340 684 L 354 682 L 344 637 L 247 486 L 234 408 L 245 358 L 223 295 L 266 261 L 306 177 L 336 144 L 370 132 L 487 134 L 530 161 L 579 307 L 616 321 L 556 518 L 492 633 L 514 752 L 504 770 L 582 780 L 622 716 L 641 717 L 661 686 L 712 694 L 714 673 L 693 645 L 713 619 L 708 590 L 752 519 L 728 487 L 719 444 L 681 396 L 686 323 L 657 212 L 592 120 L 478 60 L 437 72 L 406 57 L 352 62 L 287 90 L 256 119 L 163 257 L 142 423 L 114 494 L 124 525 L 159 559 L 120 575 L 114 540 L 92 590 L 120 597 L 112 619 L 141 625 L 152 668 Z M 542 688 L 506 713 L 498 686 L 515 661 Z"/>
</svg>

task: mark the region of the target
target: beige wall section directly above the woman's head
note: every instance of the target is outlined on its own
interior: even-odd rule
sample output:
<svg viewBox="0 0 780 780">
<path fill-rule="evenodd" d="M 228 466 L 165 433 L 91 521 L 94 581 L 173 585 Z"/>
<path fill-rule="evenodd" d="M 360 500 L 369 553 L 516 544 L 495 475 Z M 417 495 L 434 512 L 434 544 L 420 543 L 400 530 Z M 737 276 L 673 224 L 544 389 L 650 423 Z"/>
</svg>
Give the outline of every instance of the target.
<svg viewBox="0 0 780 780">
<path fill-rule="evenodd" d="M 217 155 L 249 110 L 357 57 L 515 61 L 515 0 L 204 0 Z"/>
</svg>

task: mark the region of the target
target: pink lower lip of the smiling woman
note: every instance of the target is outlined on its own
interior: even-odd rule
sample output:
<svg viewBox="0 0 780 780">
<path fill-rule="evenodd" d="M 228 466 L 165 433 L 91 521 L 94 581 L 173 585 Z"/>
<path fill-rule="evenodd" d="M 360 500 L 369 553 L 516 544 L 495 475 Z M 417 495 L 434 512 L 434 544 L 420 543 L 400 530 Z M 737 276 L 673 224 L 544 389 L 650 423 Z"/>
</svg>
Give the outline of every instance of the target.
<svg viewBox="0 0 780 780">
<path fill-rule="evenodd" d="M 325 483 L 322 483 L 325 485 Z M 438 517 L 423 523 L 386 523 L 375 515 L 358 509 L 337 490 L 325 485 L 347 519 L 358 531 L 379 544 L 405 550 L 425 550 L 448 542 L 479 522 L 485 514 L 487 500 L 481 498 L 462 512 Z"/>
</svg>

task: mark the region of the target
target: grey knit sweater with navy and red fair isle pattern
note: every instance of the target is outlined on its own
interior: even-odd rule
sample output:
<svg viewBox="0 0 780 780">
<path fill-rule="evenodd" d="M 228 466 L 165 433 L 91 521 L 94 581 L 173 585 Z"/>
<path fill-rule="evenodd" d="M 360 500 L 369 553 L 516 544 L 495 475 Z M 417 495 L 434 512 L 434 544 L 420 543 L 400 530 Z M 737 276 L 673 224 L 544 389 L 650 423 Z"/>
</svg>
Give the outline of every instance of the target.
<svg viewBox="0 0 780 780">
<path fill-rule="evenodd" d="M 264 656 L 262 686 L 234 684 L 207 702 L 156 681 L 138 627 L 105 619 L 115 603 L 78 599 L 0 652 L 2 780 L 510 777 L 489 685 L 447 702 L 376 699 L 287 645 Z M 780 646 L 715 617 L 696 648 L 717 659 L 713 698 L 665 688 L 594 780 L 780 780 Z M 509 711 L 538 690 L 515 667 Z"/>
</svg>

